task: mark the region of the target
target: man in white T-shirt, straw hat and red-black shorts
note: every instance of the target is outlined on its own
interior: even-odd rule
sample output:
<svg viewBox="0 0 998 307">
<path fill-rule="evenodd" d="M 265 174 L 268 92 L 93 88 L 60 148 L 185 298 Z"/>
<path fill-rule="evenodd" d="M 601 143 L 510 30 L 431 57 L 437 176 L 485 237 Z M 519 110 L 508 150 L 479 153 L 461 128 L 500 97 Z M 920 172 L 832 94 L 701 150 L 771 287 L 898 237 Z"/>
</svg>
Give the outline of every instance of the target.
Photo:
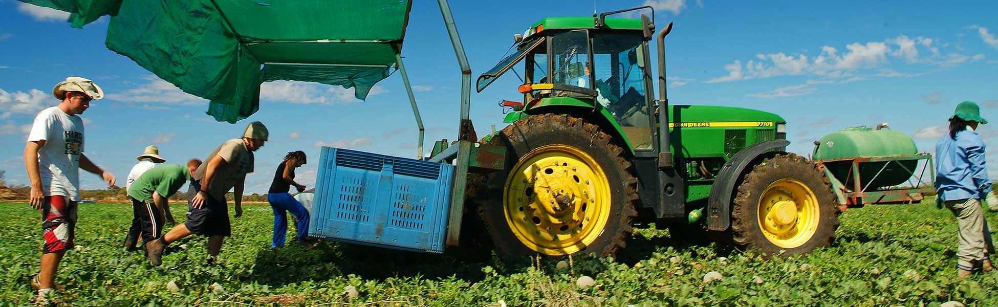
<svg viewBox="0 0 998 307">
<path fill-rule="evenodd" d="M 24 147 L 24 163 L 31 180 L 31 206 L 42 214 L 45 245 L 41 269 L 32 279 L 38 289 L 37 303 L 47 303 L 55 288 L 55 275 L 66 250 L 73 248 L 73 235 L 80 201 L 80 168 L 100 175 L 108 185 L 115 175 L 97 166 L 83 154 L 83 120 L 79 117 L 90 101 L 104 98 L 93 81 L 69 77 L 52 89 L 61 103 L 38 113 Z"/>
</svg>

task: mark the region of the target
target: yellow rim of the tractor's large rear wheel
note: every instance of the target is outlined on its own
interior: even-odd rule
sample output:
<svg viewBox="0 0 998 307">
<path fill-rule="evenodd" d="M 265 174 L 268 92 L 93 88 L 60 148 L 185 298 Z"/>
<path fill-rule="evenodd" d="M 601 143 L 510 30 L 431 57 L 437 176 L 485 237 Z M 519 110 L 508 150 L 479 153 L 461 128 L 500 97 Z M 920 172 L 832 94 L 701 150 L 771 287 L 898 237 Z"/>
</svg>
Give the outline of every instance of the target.
<svg viewBox="0 0 998 307">
<path fill-rule="evenodd" d="M 527 153 L 506 178 L 503 210 L 528 248 L 547 255 L 576 253 L 603 233 L 610 184 L 587 153 L 552 145 Z"/>
</svg>

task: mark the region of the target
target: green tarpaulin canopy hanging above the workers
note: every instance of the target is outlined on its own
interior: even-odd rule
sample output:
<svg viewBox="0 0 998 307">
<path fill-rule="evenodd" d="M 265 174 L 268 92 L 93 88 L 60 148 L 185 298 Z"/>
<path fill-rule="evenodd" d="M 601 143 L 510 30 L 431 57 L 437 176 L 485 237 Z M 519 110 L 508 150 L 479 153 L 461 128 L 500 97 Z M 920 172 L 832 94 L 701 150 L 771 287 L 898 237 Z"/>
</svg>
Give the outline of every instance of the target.
<svg viewBox="0 0 998 307">
<path fill-rule="evenodd" d="M 353 88 L 364 100 L 401 51 L 409 0 L 20 0 L 71 13 L 83 27 L 110 15 L 106 44 L 236 123 L 259 85 L 289 80 Z"/>
</svg>

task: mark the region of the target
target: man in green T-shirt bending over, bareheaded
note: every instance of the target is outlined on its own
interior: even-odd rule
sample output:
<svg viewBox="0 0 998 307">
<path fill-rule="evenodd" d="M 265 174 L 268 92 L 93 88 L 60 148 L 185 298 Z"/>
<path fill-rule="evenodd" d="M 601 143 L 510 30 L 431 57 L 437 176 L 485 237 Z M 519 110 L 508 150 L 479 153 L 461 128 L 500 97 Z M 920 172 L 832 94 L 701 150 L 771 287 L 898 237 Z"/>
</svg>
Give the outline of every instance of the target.
<svg viewBox="0 0 998 307">
<path fill-rule="evenodd" d="M 170 212 L 170 196 L 191 180 L 201 163 L 200 159 L 194 158 L 188 161 L 186 167 L 180 164 L 159 165 L 143 172 L 132 182 L 128 194 L 132 198 L 132 210 L 140 219 L 143 244 L 160 237 L 164 213 L 170 223 L 177 223 Z"/>
</svg>

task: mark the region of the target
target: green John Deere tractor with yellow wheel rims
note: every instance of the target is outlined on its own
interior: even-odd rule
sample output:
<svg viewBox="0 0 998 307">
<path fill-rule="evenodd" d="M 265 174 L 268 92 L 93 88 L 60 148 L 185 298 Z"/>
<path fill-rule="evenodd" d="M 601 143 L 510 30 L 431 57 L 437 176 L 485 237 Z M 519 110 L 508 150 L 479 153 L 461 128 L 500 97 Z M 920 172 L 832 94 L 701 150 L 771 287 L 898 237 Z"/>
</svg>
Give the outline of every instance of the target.
<svg viewBox="0 0 998 307">
<path fill-rule="evenodd" d="M 505 166 L 472 174 L 466 202 L 499 254 L 613 256 L 635 225 L 653 222 L 674 237 L 766 254 L 827 246 L 838 226 L 836 195 L 818 165 L 785 152 L 785 121 L 743 108 L 670 106 L 663 40 L 671 23 L 657 35 L 656 100 L 654 20 L 607 18 L 640 9 L 651 8 L 545 18 L 478 77 L 479 92 L 510 70 L 524 81 L 522 103 L 501 103 L 512 109 L 511 125 L 481 141 L 505 149 Z"/>
</svg>

